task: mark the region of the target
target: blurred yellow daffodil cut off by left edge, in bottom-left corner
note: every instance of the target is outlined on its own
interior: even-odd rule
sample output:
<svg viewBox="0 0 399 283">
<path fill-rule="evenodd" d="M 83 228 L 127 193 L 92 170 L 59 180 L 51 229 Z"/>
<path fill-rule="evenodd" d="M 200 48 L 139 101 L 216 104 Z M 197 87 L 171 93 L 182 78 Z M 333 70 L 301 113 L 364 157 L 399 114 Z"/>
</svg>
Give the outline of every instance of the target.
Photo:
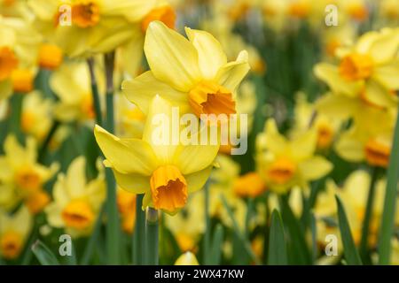
<svg viewBox="0 0 399 283">
<path fill-rule="evenodd" d="M 15 259 L 20 256 L 32 224 L 32 217 L 23 205 L 13 215 L 0 210 L 0 255 L 2 257 Z"/>
</svg>

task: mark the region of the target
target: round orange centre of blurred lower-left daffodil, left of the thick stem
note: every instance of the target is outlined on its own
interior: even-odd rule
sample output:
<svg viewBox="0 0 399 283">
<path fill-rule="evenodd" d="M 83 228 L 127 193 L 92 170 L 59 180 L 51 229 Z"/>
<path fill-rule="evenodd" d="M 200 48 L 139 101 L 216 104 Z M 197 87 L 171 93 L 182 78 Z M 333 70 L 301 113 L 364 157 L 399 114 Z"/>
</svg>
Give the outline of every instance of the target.
<svg viewBox="0 0 399 283">
<path fill-rule="evenodd" d="M 85 200 L 74 200 L 62 211 L 62 218 L 67 227 L 82 230 L 90 227 L 94 220 L 94 212 Z"/>
</svg>

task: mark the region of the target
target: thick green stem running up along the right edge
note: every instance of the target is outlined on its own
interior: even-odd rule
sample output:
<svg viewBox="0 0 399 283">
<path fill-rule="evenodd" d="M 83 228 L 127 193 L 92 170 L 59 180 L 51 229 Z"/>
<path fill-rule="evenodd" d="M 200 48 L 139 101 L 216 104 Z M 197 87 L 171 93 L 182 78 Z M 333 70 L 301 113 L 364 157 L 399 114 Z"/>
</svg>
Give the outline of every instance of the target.
<svg viewBox="0 0 399 283">
<path fill-rule="evenodd" d="M 394 142 L 387 167 L 387 189 L 384 212 L 379 230 L 379 264 L 389 264 L 391 256 L 391 238 L 394 233 L 397 180 L 399 178 L 399 113 L 396 114 Z"/>
</svg>

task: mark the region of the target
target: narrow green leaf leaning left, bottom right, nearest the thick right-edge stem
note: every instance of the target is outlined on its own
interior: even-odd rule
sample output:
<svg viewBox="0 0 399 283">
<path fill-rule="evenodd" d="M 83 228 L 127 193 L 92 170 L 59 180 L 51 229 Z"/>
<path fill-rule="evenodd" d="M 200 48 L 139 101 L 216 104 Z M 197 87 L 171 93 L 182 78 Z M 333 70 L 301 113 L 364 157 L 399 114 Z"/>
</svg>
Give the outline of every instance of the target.
<svg viewBox="0 0 399 283">
<path fill-rule="evenodd" d="M 342 238 L 346 262 L 349 265 L 362 265 L 362 261 L 360 259 L 359 253 L 357 252 L 355 242 L 353 241 L 352 234 L 350 233 L 348 218 L 345 213 L 344 207 L 340 202 L 340 198 L 338 197 L 338 195 L 335 195 L 335 199 L 337 201 L 340 236 Z"/>
</svg>

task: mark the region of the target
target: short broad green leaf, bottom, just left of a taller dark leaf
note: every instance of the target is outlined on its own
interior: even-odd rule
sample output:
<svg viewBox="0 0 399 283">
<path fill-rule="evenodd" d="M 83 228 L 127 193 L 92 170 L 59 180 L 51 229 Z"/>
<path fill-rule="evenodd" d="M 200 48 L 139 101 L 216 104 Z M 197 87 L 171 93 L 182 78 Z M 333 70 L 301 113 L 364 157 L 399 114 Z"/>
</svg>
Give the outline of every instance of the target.
<svg viewBox="0 0 399 283">
<path fill-rule="evenodd" d="M 281 220 L 278 210 L 273 210 L 271 213 L 268 264 L 288 264 L 286 256 L 286 235 L 284 233 L 283 221 Z"/>
</svg>

